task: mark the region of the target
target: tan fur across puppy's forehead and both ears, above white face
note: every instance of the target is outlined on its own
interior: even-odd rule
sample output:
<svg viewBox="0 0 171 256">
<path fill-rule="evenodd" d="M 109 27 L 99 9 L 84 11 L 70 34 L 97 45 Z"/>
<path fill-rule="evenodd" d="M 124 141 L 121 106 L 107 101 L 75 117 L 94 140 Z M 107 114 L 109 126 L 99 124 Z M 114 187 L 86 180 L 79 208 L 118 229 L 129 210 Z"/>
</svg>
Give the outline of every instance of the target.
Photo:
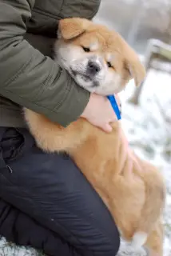
<svg viewBox="0 0 171 256">
<path fill-rule="evenodd" d="M 89 33 L 91 37 L 97 37 L 102 42 L 101 52 L 105 52 L 106 46 L 108 52 L 118 54 L 116 66 L 121 69 L 124 65 L 125 70 L 129 70 L 132 77 L 135 78 L 135 84 L 138 86 L 145 77 L 145 70 L 137 58 L 137 54 L 129 47 L 129 45 L 121 38 L 116 31 L 106 29 L 106 26 L 101 26 L 90 22 L 83 18 L 65 18 L 59 23 L 59 29 L 62 37 L 65 40 L 78 37 L 80 34 Z M 104 40 L 105 38 L 105 40 Z M 74 40 L 74 43 L 79 44 L 81 37 Z M 114 41 L 114 44 L 113 44 Z M 123 59 L 123 56 L 125 59 Z M 120 59 L 118 59 L 120 57 Z M 121 59 L 122 58 L 122 59 Z"/>
</svg>

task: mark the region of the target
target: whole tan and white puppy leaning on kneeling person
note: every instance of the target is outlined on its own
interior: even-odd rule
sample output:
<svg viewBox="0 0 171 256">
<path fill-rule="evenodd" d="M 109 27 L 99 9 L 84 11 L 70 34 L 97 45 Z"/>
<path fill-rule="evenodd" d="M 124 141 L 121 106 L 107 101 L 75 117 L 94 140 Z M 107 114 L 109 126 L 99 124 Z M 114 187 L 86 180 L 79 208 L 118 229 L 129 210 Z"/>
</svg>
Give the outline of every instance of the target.
<svg viewBox="0 0 171 256">
<path fill-rule="evenodd" d="M 56 58 L 76 82 L 96 94 L 123 90 L 130 78 L 145 77 L 137 54 L 115 31 L 82 18 L 59 23 Z M 150 255 L 163 255 L 161 214 L 165 182 L 160 172 L 130 150 L 120 122 L 105 134 L 83 118 L 63 128 L 41 114 L 25 110 L 38 146 L 70 154 L 109 208 L 121 235 Z"/>
</svg>

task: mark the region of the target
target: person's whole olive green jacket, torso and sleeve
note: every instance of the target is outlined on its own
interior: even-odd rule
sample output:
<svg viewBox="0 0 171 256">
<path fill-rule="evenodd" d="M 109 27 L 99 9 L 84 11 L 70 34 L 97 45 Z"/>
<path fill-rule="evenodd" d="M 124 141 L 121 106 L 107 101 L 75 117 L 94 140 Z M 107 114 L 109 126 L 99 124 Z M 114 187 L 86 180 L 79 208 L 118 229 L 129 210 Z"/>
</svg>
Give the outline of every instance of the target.
<svg viewBox="0 0 171 256">
<path fill-rule="evenodd" d="M 24 126 L 22 107 L 67 126 L 89 101 L 50 56 L 61 18 L 93 18 L 100 0 L 0 0 L 0 126 Z"/>
</svg>

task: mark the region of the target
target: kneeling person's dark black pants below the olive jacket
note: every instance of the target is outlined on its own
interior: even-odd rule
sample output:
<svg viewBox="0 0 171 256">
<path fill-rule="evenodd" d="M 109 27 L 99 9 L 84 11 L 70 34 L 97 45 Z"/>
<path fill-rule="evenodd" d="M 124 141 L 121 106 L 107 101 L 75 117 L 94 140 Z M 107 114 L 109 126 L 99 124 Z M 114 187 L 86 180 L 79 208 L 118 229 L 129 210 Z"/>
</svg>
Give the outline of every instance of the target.
<svg viewBox="0 0 171 256">
<path fill-rule="evenodd" d="M 26 129 L 0 127 L 0 234 L 54 256 L 114 256 L 113 218 L 66 155 L 45 154 Z"/>
</svg>

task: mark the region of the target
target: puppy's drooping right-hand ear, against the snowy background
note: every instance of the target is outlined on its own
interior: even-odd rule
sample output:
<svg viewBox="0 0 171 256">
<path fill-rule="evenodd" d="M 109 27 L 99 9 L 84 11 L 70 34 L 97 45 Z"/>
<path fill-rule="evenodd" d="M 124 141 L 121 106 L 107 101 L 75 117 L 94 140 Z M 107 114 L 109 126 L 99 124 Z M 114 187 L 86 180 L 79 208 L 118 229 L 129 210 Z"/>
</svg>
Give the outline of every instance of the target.
<svg viewBox="0 0 171 256">
<path fill-rule="evenodd" d="M 129 71 L 130 78 L 134 79 L 135 85 L 139 86 L 145 78 L 145 67 L 132 49 L 126 52 L 125 69 Z"/>
</svg>

